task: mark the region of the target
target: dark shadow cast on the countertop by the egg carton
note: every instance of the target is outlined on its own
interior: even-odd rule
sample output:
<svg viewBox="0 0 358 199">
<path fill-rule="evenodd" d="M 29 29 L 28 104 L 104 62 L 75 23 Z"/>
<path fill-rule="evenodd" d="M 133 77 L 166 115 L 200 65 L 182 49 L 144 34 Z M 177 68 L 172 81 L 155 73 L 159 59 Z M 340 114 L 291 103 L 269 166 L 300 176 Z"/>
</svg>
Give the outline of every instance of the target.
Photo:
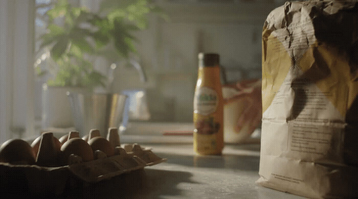
<svg viewBox="0 0 358 199">
<path fill-rule="evenodd" d="M 66 198 L 149 199 L 181 195 L 177 185 L 182 182 L 195 183 L 190 180 L 191 177 L 191 173 L 183 171 L 140 169 L 96 184 L 82 185 L 77 189 L 72 187 L 71 194 Z"/>
</svg>

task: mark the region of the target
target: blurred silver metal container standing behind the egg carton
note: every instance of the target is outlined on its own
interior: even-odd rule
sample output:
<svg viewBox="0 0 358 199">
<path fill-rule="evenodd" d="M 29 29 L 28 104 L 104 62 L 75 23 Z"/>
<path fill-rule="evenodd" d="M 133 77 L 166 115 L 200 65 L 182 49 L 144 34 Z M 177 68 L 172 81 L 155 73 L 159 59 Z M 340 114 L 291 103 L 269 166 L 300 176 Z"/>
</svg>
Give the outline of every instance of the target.
<svg viewBox="0 0 358 199">
<path fill-rule="evenodd" d="M 98 129 L 105 137 L 108 128 L 119 128 L 127 95 L 118 93 L 67 93 L 74 117 L 75 128 L 81 136 Z"/>
</svg>

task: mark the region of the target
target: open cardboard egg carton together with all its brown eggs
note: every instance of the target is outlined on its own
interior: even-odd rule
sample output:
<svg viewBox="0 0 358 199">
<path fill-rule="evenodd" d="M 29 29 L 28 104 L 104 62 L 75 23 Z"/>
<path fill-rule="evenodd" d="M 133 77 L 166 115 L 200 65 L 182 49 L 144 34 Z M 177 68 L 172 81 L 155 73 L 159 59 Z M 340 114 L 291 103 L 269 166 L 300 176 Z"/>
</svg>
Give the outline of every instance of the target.
<svg viewBox="0 0 358 199">
<path fill-rule="evenodd" d="M 166 161 L 138 144 L 132 144 L 132 150 L 127 152 L 120 146 L 116 128 L 108 130 L 107 138 L 92 130 L 87 141 L 75 131 L 69 132 L 65 139 L 46 132 L 31 145 L 21 139 L 8 140 L 0 147 L 0 177 L 6 176 L 0 179 L 11 179 L 11 173 L 16 170 L 25 173 L 35 192 L 57 193 L 63 190 L 70 176 L 96 183 Z"/>
</svg>

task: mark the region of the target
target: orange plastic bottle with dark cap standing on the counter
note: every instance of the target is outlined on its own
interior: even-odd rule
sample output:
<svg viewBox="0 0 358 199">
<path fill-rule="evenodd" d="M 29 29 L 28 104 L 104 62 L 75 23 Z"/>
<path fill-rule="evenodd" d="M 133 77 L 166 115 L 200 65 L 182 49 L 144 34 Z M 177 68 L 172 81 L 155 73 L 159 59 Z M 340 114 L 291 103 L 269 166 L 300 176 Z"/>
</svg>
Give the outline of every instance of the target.
<svg viewBox="0 0 358 199">
<path fill-rule="evenodd" d="M 223 148 L 223 99 L 218 54 L 198 55 L 194 94 L 194 151 L 220 155 Z"/>
</svg>

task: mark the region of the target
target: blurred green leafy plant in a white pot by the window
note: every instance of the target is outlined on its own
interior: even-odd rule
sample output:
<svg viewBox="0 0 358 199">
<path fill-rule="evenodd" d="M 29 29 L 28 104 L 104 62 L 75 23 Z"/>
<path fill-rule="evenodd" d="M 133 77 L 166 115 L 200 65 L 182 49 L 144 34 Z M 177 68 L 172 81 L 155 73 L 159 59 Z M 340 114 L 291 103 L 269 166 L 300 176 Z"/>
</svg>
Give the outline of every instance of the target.
<svg viewBox="0 0 358 199">
<path fill-rule="evenodd" d="M 65 92 L 70 89 L 93 92 L 96 87 L 106 88 L 106 74 L 96 70 L 91 59 L 101 56 L 113 63 L 136 54 L 137 39 L 133 33 L 148 26 L 148 14 L 151 12 L 165 17 L 159 7 L 147 0 L 103 0 L 98 12 L 71 5 L 68 0 L 55 2 L 46 13 L 47 32 L 40 37 L 40 48 L 46 49 L 44 52 L 50 55 L 50 62 L 55 67 L 35 67 L 39 76 L 46 74 L 48 77 L 45 113 L 42 114 L 47 121 L 43 126 L 72 125 Z M 55 94 L 61 96 L 53 96 Z M 49 102 L 50 98 L 55 104 Z M 55 117 L 50 118 L 50 115 Z"/>
</svg>

